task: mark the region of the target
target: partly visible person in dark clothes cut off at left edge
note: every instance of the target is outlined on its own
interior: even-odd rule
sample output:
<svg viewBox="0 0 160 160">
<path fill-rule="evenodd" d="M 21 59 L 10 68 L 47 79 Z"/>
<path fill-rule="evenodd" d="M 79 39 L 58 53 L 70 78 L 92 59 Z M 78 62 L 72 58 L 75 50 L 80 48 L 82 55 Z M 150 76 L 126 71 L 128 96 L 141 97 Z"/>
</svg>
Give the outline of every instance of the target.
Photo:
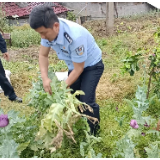
<svg viewBox="0 0 160 160">
<path fill-rule="evenodd" d="M 3 53 L 4 59 L 9 61 L 9 54 L 7 52 L 6 42 L 3 39 L 1 34 L 0 34 L 0 50 Z M 3 68 L 1 59 L 0 59 L 0 86 L 4 91 L 4 95 L 7 96 L 10 101 L 15 101 L 15 102 L 22 103 L 22 99 L 17 97 L 13 87 L 11 86 L 8 79 L 6 78 L 5 70 Z"/>
</svg>

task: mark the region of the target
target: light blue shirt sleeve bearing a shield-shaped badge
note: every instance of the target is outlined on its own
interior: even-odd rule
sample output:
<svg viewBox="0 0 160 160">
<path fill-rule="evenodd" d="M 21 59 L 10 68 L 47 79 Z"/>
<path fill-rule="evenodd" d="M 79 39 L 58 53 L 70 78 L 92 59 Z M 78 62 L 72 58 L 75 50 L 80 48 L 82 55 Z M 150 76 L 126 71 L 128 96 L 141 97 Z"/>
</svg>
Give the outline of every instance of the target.
<svg viewBox="0 0 160 160">
<path fill-rule="evenodd" d="M 79 37 L 73 41 L 71 47 L 71 59 L 73 62 L 82 63 L 87 59 L 87 38 Z"/>
</svg>

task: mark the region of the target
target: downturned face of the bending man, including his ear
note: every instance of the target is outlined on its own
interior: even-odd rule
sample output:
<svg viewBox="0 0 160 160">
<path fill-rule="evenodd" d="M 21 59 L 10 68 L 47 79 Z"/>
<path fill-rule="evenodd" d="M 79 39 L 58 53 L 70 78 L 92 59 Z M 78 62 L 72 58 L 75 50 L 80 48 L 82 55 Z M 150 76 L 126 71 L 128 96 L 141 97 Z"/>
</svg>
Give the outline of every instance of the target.
<svg viewBox="0 0 160 160">
<path fill-rule="evenodd" d="M 53 41 L 59 33 L 59 23 L 55 22 L 52 28 L 39 27 L 35 29 L 41 36 L 41 38 Z"/>
</svg>

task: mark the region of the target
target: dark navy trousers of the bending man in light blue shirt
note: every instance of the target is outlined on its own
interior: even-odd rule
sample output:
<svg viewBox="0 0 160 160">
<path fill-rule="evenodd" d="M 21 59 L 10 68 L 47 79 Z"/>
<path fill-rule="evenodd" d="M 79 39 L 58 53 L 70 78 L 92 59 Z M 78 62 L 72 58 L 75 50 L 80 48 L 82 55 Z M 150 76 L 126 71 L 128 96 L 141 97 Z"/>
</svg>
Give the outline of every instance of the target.
<svg viewBox="0 0 160 160">
<path fill-rule="evenodd" d="M 100 80 L 100 77 L 102 76 L 103 71 L 104 71 L 104 64 L 101 60 L 94 66 L 84 68 L 79 78 L 70 86 L 70 88 L 73 89 L 73 91 L 71 92 L 72 94 L 76 90 L 82 90 L 85 93 L 85 95 L 77 96 L 77 98 L 81 102 L 85 102 L 90 107 L 92 107 L 93 113 L 91 113 L 89 110 L 86 110 L 83 113 L 97 118 L 99 122 L 100 122 L 100 113 L 99 113 L 99 105 L 96 103 L 96 87 Z M 68 75 L 70 73 L 71 71 L 68 72 Z M 88 124 L 90 126 L 91 133 L 93 133 L 95 125 L 93 125 L 93 123 L 90 121 L 88 121 Z"/>
</svg>

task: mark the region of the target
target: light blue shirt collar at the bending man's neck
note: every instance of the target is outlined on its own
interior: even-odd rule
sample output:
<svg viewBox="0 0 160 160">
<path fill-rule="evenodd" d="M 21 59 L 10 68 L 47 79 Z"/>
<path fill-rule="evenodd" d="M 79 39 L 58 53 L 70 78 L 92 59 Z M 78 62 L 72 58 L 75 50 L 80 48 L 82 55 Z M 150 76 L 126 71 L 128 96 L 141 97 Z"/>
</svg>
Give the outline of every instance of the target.
<svg viewBox="0 0 160 160">
<path fill-rule="evenodd" d="M 63 29 L 63 23 L 61 22 L 61 20 L 59 20 L 59 33 L 58 33 L 58 36 L 56 38 L 56 40 L 53 40 L 53 44 L 56 45 L 56 44 L 61 44 L 63 45 L 64 44 L 64 29 Z"/>
</svg>

